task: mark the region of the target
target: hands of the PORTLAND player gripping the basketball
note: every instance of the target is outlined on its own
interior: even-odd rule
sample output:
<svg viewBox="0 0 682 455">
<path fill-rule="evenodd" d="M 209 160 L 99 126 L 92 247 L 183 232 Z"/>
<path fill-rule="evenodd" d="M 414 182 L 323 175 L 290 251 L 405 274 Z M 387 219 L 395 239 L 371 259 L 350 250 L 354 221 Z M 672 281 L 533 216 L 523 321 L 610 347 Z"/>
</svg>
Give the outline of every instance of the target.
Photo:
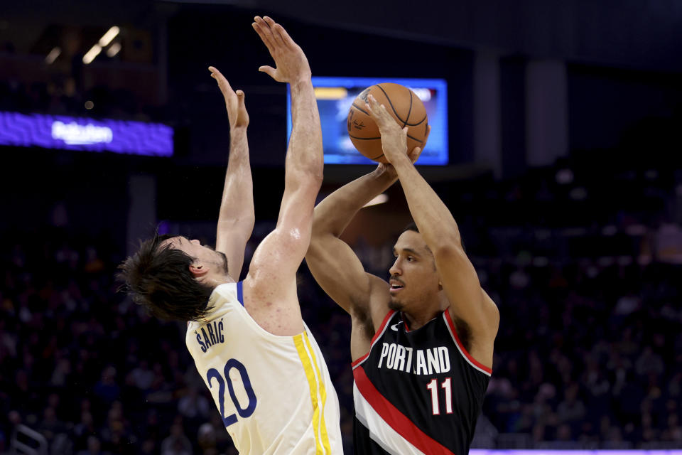
<svg viewBox="0 0 682 455">
<path fill-rule="evenodd" d="M 365 104 L 369 116 L 372 117 L 374 122 L 377 123 L 379 127 L 379 134 L 381 134 L 381 149 L 384 150 L 384 156 L 393 164 L 396 160 L 407 157 L 413 163 L 417 161 L 419 155 L 421 154 L 422 148 L 415 147 L 411 151 L 407 149 L 407 130 L 408 128 L 402 128 L 396 122 L 396 120 L 391 117 L 391 114 L 386 110 L 384 105 L 380 105 L 377 99 L 373 95 L 367 97 L 367 103 Z M 428 132 L 426 133 L 426 139 L 424 143 L 428 140 L 428 134 L 431 133 L 431 127 L 428 127 Z M 381 166 L 379 166 L 381 167 Z M 393 171 L 392 166 L 385 166 L 386 171 Z"/>
</svg>

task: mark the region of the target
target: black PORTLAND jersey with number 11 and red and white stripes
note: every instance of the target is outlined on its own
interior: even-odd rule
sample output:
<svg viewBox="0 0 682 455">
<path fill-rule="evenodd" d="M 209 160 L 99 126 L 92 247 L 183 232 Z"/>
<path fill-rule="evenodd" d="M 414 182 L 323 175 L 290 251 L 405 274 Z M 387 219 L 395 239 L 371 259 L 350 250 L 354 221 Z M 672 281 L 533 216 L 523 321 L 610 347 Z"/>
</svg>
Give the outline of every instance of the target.
<svg viewBox="0 0 682 455">
<path fill-rule="evenodd" d="M 353 363 L 355 453 L 467 455 L 490 373 L 449 311 L 415 331 L 390 311 Z"/>
</svg>

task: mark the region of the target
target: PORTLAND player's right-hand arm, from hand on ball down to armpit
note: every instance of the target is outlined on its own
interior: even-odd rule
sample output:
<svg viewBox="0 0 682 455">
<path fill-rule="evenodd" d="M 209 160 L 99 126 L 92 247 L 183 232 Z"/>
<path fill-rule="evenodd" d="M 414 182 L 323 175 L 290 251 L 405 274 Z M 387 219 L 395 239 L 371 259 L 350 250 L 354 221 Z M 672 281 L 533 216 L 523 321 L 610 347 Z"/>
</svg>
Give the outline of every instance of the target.
<svg viewBox="0 0 682 455">
<path fill-rule="evenodd" d="M 374 97 L 369 97 L 366 108 L 379 126 L 384 155 L 396 169 L 410 212 L 433 253 L 441 285 L 450 301 L 450 314 L 470 326 L 470 353 L 490 366 L 499 312 L 481 289 L 476 271 L 462 247 L 455 218 L 408 158 L 406 129 L 401 129 Z"/>
</svg>

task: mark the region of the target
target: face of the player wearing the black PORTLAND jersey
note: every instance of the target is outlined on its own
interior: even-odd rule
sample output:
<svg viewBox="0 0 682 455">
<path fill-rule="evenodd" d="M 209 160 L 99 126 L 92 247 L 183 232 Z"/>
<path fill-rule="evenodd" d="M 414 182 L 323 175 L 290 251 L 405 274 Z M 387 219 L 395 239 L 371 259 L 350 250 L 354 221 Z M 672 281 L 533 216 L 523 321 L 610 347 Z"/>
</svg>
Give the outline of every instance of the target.
<svg viewBox="0 0 682 455">
<path fill-rule="evenodd" d="M 391 309 L 403 310 L 407 306 L 427 302 L 438 293 L 438 272 L 431 250 L 421 234 L 407 230 L 398 237 L 393 247 L 396 260 L 389 269 Z"/>
</svg>

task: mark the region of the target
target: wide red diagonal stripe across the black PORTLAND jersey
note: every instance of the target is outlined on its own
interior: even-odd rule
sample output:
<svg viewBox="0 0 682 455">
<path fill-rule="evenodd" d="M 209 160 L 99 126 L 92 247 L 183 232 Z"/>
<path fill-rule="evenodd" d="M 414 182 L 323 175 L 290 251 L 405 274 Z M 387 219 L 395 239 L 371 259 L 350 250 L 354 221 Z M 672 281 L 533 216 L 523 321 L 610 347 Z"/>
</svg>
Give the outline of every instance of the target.
<svg viewBox="0 0 682 455">
<path fill-rule="evenodd" d="M 362 394 L 362 397 L 379 414 L 379 417 L 386 424 L 389 424 L 389 427 L 394 429 L 401 437 L 404 437 L 406 441 L 425 454 L 454 455 L 447 447 L 421 431 L 405 414 L 400 412 L 394 405 L 391 405 L 391 402 L 386 400 L 386 397 L 381 395 L 377 387 L 374 387 L 372 381 L 367 378 L 367 373 L 364 373 L 364 369 L 355 368 L 353 370 L 353 378 L 357 390 Z"/>
</svg>

